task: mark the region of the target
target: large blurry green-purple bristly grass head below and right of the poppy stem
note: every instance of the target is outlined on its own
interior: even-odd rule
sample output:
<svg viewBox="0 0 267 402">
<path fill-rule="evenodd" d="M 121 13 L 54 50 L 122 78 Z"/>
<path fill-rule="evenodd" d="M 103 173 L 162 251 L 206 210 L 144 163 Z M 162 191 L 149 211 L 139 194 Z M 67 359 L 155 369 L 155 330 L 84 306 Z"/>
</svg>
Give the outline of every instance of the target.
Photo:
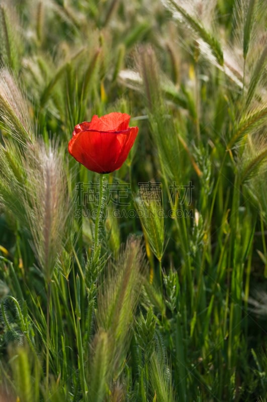
<svg viewBox="0 0 267 402">
<path fill-rule="evenodd" d="M 129 346 L 145 268 L 141 240 L 130 236 L 114 266 L 110 265 L 98 296 L 97 324 L 108 332 L 114 345 L 113 361 L 121 362 Z"/>
</svg>

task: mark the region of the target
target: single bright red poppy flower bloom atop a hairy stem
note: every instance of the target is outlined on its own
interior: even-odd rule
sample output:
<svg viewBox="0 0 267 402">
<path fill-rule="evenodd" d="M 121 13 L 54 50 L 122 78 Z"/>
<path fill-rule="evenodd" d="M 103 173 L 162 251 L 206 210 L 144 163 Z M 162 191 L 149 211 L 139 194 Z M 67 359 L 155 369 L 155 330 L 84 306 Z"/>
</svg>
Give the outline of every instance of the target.
<svg viewBox="0 0 267 402">
<path fill-rule="evenodd" d="M 129 122 L 129 115 L 114 112 L 77 124 L 68 143 L 70 155 L 93 172 L 119 169 L 138 133 L 138 127 L 129 127 Z"/>
</svg>

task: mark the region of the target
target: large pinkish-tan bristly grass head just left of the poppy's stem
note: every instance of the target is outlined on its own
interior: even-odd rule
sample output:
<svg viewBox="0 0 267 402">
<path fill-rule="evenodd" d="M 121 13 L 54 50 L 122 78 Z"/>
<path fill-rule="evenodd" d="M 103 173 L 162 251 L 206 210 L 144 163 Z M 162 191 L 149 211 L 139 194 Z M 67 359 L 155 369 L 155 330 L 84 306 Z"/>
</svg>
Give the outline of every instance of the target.
<svg viewBox="0 0 267 402">
<path fill-rule="evenodd" d="M 24 205 L 33 238 L 33 249 L 51 280 L 56 257 L 62 250 L 69 199 L 62 150 L 55 143 L 37 141 L 24 160 Z"/>
</svg>

